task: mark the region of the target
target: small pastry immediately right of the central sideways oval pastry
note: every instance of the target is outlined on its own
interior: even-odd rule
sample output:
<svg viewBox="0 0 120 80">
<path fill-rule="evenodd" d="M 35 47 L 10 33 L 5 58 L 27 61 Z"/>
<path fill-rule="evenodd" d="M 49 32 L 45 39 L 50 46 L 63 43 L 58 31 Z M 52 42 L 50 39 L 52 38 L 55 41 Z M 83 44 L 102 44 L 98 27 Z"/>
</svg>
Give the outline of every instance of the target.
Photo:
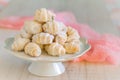
<svg viewBox="0 0 120 80">
<path fill-rule="evenodd" d="M 55 42 L 58 42 L 59 44 L 64 45 L 66 41 L 67 41 L 67 35 L 65 33 L 59 33 L 55 37 Z"/>
</svg>

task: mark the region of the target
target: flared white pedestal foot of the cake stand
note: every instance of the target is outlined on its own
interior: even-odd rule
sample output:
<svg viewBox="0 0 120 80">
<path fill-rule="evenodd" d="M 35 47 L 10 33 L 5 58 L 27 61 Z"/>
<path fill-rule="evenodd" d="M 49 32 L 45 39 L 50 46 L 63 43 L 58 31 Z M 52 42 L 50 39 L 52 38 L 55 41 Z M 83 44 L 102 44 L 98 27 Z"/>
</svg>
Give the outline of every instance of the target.
<svg viewBox="0 0 120 80">
<path fill-rule="evenodd" d="M 62 74 L 65 68 L 62 62 L 32 62 L 28 70 L 37 76 L 56 76 Z"/>
</svg>

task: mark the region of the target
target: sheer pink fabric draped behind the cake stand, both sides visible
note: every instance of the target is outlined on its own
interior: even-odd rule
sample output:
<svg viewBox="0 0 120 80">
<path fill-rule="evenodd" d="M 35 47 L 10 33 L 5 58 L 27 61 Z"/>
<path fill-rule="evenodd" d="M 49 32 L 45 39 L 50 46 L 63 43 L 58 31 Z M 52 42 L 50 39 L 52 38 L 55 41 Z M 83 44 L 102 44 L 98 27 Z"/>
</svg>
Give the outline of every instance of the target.
<svg viewBox="0 0 120 80">
<path fill-rule="evenodd" d="M 0 26 L 5 28 L 19 30 L 25 20 L 33 17 L 9 17 L 0 20 Z M 91 49 L 74 62 L 107 62 L 110 64 L 120 64 L 120 38 L 110 34 L 99 34 L 91 29 L 88 25 L 79 24 L 74 15 L 69 12 L 56 13 L 56 20 L 62 21 L 66 25 L 75 28 L 81 37 L 85 37 Z"/>
</svg>

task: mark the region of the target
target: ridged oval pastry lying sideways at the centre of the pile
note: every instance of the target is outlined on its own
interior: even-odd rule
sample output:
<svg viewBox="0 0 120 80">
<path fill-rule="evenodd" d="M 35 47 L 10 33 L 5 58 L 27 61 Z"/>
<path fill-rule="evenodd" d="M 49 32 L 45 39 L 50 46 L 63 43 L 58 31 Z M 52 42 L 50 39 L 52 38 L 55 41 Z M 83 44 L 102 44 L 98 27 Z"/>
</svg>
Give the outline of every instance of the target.
<svg viewBox="0 0 120 80">
<path fill-rule="evenodd" d="M 39 33 L 32 37 L 32 42 L 37 44 L 50 44 L 53 42 L 54 36 L 49 33 Z"/>
</svg>

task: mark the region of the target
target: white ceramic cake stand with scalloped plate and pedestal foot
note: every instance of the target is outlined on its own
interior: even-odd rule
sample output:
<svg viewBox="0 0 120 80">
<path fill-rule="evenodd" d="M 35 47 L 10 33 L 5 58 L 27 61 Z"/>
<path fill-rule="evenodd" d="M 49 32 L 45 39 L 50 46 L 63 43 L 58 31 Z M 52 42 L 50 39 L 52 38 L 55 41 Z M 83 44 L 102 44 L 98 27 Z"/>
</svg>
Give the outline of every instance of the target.
<svg viewBox="0 0 120 80">
<path fill-rule="evenodd" d="M 24 54 L 24 52 L 12 51 L 11 44 L 13 43 L 13 40 L 13 38 L 6 39 L 4 49 L 16 57 L 31 61 L 28 70 L 30 73 L 37 76 L 56 76 L 62 74 L 65 71 L 65 67 L 62 64 L 63 61 L 69 61 L 80 57 L 91 48 L 87 41 L 81 38 L 80 52 L 74 54 L 66 54 L 61 57 L 49 56 L 47 53 L 42 52 L 42 55 L 39 57 L 30 57 Z"/>
</svg>

